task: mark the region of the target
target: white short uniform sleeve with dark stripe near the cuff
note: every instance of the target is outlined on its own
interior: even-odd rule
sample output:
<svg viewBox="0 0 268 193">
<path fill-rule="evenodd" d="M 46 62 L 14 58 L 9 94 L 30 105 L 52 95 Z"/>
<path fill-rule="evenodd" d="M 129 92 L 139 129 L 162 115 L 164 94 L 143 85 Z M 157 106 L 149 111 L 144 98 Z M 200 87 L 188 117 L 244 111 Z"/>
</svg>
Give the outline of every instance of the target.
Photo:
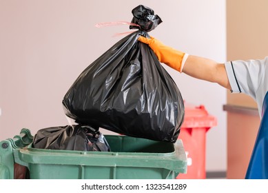
<svg viewBox="0 0 268 193">
<path fill-rule="evenodd" d="M 265 74 L 265 62 L 263 60 L 229 61 L 225 63 L 225 69 L 231 85 L 231 92 L 243 92 L 256 100 L 256 92 L 262 84 Z"/>
</svg>

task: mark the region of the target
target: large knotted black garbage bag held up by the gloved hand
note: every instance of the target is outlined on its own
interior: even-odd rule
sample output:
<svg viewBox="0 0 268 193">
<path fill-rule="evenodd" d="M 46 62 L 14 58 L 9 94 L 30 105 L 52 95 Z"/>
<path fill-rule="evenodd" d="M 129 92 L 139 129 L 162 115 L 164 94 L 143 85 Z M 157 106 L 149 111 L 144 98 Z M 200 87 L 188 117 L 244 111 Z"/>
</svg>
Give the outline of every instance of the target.
<svg viewBox="0 0 268 193">
<path fill-rule="evenodd" d="M 145 25 L 153 11 L 134 9 Z M 137 14 L 143 18 L 136 18 Z M 155 141 L 176 142 L 184 117 L 181 92 L 150 47 L 138 41 L 162 22 L 124 37 L 91 63 L 63 98 L 65 114 L 76 123 Z"/>
</svg>

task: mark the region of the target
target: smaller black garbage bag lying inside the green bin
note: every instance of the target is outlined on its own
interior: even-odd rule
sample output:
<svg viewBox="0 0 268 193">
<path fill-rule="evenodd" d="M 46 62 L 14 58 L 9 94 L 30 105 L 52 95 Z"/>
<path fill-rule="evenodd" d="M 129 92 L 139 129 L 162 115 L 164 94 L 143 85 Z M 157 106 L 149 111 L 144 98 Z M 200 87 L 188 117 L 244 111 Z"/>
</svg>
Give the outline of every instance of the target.
<svg viewBox="0 0 268 193">
<path fill-rule="evenodd" d="M 66 125 L 43 128 L 34 135 L 33 148 L 110 152 L 105 136 L 90 126 Z"/>
</svg>

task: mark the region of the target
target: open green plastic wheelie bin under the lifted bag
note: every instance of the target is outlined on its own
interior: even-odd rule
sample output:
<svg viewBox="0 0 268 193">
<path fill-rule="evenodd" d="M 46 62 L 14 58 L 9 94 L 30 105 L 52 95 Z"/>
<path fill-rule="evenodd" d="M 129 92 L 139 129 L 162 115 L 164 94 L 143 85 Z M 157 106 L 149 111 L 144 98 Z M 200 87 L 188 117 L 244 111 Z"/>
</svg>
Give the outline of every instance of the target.
<svg viewBox="0 0 268 193">
<path fill-rule="evenodd" d="M 23 129 L 22 137 L 0 142 L 0 179 L 14 179 L 14 165 L 27 167 L 29 179 L 176 179 L 187 172 L 179 139 L 105 135 L 112 152 L 84 152 L 32 148 L 29 133 Z"/>
</svg>

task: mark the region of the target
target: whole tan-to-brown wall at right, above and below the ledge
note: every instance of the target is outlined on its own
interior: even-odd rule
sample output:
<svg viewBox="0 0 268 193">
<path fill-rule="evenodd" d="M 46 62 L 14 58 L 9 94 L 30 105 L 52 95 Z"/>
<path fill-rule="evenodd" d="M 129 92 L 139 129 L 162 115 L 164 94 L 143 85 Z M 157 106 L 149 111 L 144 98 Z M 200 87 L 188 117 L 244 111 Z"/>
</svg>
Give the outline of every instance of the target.
<svg viewBox="0 0 268 193">
<path fill-rule="evenodd" d="M 262 59 L 267 56 L 268 1 L 227 0 L 227 60 Z M 227 94 L 229 105 L 256 108 L 245 94 Z M 257 115 L 227 114 L 227 177 L 243 179 L 260 124 Z"/>
</svg>

